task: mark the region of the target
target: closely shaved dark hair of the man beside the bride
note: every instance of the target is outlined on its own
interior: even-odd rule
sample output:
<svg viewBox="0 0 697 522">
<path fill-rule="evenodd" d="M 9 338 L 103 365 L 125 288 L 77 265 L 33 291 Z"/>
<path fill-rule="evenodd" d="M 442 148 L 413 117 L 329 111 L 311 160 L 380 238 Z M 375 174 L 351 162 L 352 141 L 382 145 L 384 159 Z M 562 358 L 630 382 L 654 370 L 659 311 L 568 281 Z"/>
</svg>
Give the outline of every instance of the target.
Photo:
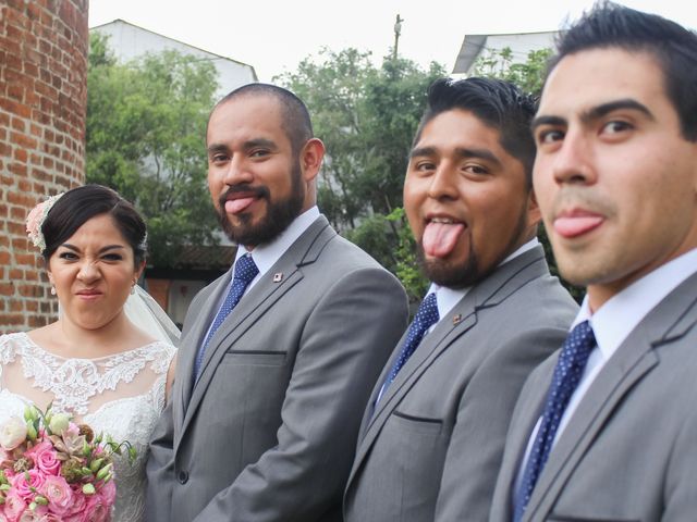
<svg viewBox="0 0 697 522">
<path fill-rule="evenodd" d="M 307 107 L 297 96 L 283 87 L 271 84 L 246 84 L 237 87 L 224 96 L 213 110 L 211 115 L 223 103 L 242 96 L 269 96 L 278 100 L 281 105 L 281 125 L 293 148 L 293 153 L 297 156 L 305 144 L 314 137 L 313 123 L 309 117 Z M 210 116 L 208 117 L 210 122 Z"/>
</svg>

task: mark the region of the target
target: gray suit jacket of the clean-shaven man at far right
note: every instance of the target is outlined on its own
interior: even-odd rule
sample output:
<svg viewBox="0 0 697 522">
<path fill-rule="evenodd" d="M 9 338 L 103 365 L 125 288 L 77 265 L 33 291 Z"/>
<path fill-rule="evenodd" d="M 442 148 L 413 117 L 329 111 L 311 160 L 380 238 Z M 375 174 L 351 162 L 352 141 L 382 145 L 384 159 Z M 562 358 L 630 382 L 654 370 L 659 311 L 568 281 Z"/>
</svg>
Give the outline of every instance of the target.
<svg viewBox="0 0 697 522">
<path fill-rule="evenodd" d="M 550 453 L 526 521 L 697 520 L 697 274 L 629 334 Z M 558 355 L 521 393 L 491 521 L 512 520 L 512 487 Z"/>
</svg>

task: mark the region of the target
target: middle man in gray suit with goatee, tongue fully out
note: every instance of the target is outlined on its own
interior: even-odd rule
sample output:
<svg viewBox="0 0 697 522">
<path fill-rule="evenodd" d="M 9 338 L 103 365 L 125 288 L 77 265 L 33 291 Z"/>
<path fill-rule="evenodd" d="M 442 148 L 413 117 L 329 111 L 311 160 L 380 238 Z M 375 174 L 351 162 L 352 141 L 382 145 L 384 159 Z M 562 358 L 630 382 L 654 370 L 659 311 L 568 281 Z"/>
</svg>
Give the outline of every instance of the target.
<svg viewBox="0 0 697 522">
<path fill-rule="evenodd" d="M 534 100 L 469 78 L 428 103 L 404 207 L 432 283 L 364 415 L 348 522 L 485 520 L 519 388 L 577 310 L 536 238 Z"/>
</svg>

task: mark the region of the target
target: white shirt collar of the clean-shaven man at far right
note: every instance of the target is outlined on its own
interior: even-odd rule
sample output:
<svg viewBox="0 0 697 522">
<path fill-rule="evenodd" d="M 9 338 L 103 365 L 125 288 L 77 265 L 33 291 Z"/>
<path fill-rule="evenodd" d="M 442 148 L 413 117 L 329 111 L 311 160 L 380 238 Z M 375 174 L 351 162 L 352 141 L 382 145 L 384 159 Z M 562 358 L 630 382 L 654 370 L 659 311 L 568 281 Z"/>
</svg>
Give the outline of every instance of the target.
<svg viewBox="0 0 697 522">
<path fill-rule="evenodd" d="M 617 350 L 629 333 L 648 313 L 687 277 L 697 272 L 697 248 L 635 281 L 591 313 L 588 296 L 578 311 L 572 330 L 590 321 L 598 348 L 604 360 Z"/>
</svg>

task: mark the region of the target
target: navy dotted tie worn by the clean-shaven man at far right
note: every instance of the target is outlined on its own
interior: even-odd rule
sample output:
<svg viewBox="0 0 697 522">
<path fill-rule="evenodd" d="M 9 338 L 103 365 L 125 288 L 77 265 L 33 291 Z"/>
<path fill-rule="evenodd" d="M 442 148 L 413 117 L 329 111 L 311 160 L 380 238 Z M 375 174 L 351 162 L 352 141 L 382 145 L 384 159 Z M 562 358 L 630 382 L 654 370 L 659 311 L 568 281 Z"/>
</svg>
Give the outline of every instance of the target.
<svg viewBox="0 0 697 522">
<path fill-rule="evenodd" d="M 588 356 L 596 346 L 596 337 L 588 321 L 576 325 L 564 340 L 562 352 L 554 368 L 552 384 L 550 385 L 542 412 L 542 421 L 535 437 L 533 450 L 525 465 L 521 489 L 516 496 L 514 521 L 523 519 L 527 502 L 530 500 L 535 484 L 542 473 L 547 459 L 552 449 L 554 435 L 559 423 L 574 394 L 580 376 L 584 373 Z"/>
</svg>

